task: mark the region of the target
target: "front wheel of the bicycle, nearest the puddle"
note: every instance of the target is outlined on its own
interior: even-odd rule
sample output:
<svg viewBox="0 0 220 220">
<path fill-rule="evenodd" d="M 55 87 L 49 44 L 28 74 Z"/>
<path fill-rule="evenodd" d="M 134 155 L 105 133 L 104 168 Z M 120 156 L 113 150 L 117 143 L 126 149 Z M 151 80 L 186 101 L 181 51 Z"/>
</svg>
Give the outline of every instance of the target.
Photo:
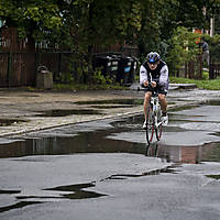
<svg viewBox="0 0 220 220">
<path fill-rule="evenodd" d="M 146 116 L 146 141 L 148 144 L 152 143 L 154 136 L 154 114 L 152 111 L 152 106 L 148 106 L 147 116 Z"/>
</svg>

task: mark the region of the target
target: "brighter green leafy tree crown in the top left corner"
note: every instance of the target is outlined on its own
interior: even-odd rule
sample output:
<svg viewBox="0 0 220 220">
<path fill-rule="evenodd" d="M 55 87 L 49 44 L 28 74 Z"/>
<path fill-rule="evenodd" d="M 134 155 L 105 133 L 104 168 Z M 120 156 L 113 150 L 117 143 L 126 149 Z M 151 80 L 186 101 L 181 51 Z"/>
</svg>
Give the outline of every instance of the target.
<svg viewBox="0 0 220 220">
<path fill-rule="evenodd" d="M 48 31 L 62 26 L 59 9 L 53 0 L 1 0 L 0 19 L 18 28 L 20 38 L 40 41 Z"/>
</svg>

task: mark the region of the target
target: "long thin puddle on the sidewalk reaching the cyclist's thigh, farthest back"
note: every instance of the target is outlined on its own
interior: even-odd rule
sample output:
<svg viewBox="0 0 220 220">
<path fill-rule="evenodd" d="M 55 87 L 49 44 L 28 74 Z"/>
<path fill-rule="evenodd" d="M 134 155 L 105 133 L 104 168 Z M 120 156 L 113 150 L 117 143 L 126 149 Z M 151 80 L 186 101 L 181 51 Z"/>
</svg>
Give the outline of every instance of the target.
<svg viewBox="0 0 220 220">
<path fill-rule="evenodd" d="M 143 99 L 108 99 L 108 100 L 94 100 L 94 101 L 78 101 L 77 105 L 107 105 L 107 103 L 118 103 L 118 105 L 143 105 Z"/>
</svg>

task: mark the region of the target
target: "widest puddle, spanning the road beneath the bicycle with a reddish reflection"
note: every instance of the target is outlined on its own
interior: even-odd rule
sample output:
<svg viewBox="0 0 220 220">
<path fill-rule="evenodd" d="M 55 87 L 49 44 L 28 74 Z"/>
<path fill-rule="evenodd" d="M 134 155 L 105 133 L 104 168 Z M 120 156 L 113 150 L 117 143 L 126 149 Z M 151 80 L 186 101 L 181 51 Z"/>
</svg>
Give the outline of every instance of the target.
<svg viewBox="0 0 220 220">
<path fill-rule="evenodd" d="M 29 138 L 0 144 L 0 157 L 19 157 L 29 155 L 63 155 L 76 153 L 133 153 L 161 157 L 167 162 L 197 164 L 204 161 L 220 162 L 220 143 L 209 143 L 198 146 L 158 145 L 146 147 L 145 139 L 140 124 L 130 122 L 113 122 L 113 128 L 101 131 L 79 132 L 73 136 Z M 139 118 L 138 118 L 139 120 Z M 128 128 L 124 128 L 127 123 Z M 131 133 L 134 132 L 135 133 Z M 172 131 L 167 131 L 172 132 Z M 112 134 L 125 133 L 123 140 L 110 139 Z M 136 139 L 136 142 L 133 142 Z M 130 141 L 131 140 L 131 141 Z M 148 152 L 146 152 L 146 150 Z"/>
</svg>

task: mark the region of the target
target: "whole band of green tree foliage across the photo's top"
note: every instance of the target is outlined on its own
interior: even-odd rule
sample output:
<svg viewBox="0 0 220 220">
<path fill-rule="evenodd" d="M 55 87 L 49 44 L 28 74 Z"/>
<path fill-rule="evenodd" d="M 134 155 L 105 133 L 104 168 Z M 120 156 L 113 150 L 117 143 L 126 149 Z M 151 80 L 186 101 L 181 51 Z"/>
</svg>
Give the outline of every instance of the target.
<svg viewBox="0 0 220 220">
<path fill-rule="evenodd" d="M 166 55 L 179 26 L 208 29 L 219 6 L 220 0 L 1 0 L 0 19 L 16 26 L 21 38 L 74 51 L 90 74 L 97 46 L 138 44 L 140 56 L 150 51 Z"/>
</svg>

